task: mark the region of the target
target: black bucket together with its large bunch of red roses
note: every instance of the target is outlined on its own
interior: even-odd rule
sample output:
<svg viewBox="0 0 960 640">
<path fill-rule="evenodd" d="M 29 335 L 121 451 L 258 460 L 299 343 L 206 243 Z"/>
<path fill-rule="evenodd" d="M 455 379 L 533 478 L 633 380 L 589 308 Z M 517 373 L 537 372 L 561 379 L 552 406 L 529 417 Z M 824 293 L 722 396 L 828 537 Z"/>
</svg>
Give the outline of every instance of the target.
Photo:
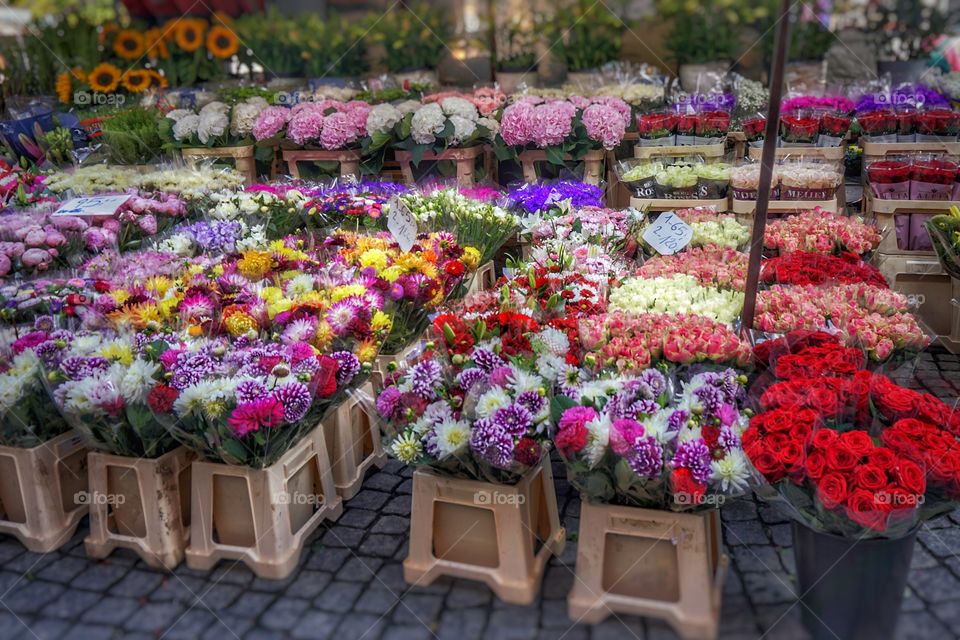
<svg viewBox="0 0 960 640">
<path fill-rule="evenodd" d="M 743 446 L 770 483 L 760 496 L 794 520 L 804 624 L 816 639 L 891 638 L 917 530 L 955 507 L 941 463 L 960 455 L 960 415 L 830 334 L 762 342 L 756 359 L 767 373 Z"/>
</svg>

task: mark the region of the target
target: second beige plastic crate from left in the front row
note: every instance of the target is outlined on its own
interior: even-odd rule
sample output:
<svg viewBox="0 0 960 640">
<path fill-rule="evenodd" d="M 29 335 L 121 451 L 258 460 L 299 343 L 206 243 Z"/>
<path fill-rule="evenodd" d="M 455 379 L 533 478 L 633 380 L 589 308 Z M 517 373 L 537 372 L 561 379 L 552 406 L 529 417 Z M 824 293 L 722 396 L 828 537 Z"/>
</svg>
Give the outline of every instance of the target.
<svg viewBox="0 0 960 640">
<path fill-rule="evenodd" d="M 91 452 L 87 555 L 106 558 L 121 548 L 154 569 L 180 564 L 190 538 L 190 465 L 196 457 L 186 447 L 153 459 Z"/>
</svg>

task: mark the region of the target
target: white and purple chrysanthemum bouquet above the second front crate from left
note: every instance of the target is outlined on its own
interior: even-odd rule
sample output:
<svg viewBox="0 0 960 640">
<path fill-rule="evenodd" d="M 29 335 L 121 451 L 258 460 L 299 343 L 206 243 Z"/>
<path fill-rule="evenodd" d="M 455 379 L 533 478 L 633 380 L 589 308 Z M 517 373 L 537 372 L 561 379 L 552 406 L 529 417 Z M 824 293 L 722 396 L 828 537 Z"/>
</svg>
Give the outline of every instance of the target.
<svg viewBox="0 0 960 640">
<path fill-rule="evenodd" d="M 156 458 L 176 442 L 147 404 L 161 377 L 161 351 L 143 334 L 78 333 L 44 360 L 49 392 L 63 417 L 98 449 Z"/>
</svg>

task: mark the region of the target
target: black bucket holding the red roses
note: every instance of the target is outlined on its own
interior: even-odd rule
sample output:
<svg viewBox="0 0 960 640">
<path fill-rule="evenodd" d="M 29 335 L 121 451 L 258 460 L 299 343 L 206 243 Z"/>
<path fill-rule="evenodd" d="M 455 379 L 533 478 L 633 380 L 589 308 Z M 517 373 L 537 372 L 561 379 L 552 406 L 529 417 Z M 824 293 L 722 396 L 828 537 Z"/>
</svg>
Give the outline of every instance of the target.
<svg viewBox="0 0 960 640">
<path fill-rule="evenodd" d="M 793 523 L 803 624 L 814 640 L 885 640 L 897 628 L 917 532 L 857 540 Z"/>
</svg>

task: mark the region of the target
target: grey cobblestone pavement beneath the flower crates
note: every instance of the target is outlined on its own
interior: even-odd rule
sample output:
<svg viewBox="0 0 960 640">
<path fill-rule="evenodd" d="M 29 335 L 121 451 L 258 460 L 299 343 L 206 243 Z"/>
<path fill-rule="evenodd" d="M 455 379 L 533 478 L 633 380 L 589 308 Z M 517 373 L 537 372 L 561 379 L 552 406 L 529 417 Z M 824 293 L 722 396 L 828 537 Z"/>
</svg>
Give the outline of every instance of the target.
<svg viewBox="0 0 960 640">
<path fill-rule="evenodd" d="M 927 353 L 902 368 L 902 384 L 948 402 L 960 389 L 960 359 Z M 304 638 L 413 640 L 490 638 L 601 640 L 673 638 L 669 628 L 632 616 L 588 626 L 567 617 L 580 502 L 555 465 L 569 540 L 553 558 L 531 606 L 506 605 L 487 587 L 440 579 L 404 583 L 410 471 L 391 462 L 369 475 L 343 515 L 308 543 L 287 580 L 262 580 L 243 565 L 213 571 L 182 565 L 173 574 L 148 569 L 132 553 L 86 557 L 86 522 L 63 549 L 26 552 L 0 539 L 0 638 Z M 790 524 L 752 499 L 724 507 L 731 571 L 724 585 L 721 638 L 805 638 L 795 595 Z M 960 514 L 930 522 L 919 534 L 898 638 L 960 637 Z"/>
</svg>

